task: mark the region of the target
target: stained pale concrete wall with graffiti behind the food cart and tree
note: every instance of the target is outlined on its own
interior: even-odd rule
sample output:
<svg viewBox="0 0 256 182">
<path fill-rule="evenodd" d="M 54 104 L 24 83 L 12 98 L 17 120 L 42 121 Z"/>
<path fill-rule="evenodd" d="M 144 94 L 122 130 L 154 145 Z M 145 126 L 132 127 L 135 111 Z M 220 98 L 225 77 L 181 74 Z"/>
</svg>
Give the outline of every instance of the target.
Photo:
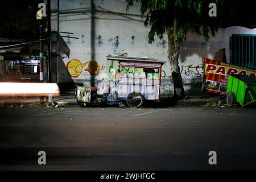
<svg viewBox="0 0 256 182">
<path fill-rule="evenodd" d="M 67 67 L 69 61 L 77 59 L 80 61 L 82 72 L 72 79 L 75 82 L 83 82 L 90 85 L 91 74 L 88 68 L 91 60 L 90 41 L 94 35 L 95 60 L 97 61 L 98 73 L 95 76 L 96 82 L 108 77 L 109 67 L 112 63 L 106 61 L 106 56 L 116 52 L 127 52 L 128 56 L 147 56 L 155 59 L 166 60 L 163 66 L 163 79 L 161 93 L 171 95 L 173 88 L 170 81 L 170 63 L 167 60 L 167 38 L 163 40 L 155 38 L 155 42 L 148 44 L 147 34 L 150 28 L 144 27 L 143 20 L 139 15 L 139 4 L 133 6 L 126 14 L 126 3 L 124 0 L 94 0 L 96 7 L 95 29 L 91 31 L 91 1 L 90 0 L 61 0 L 60 1 L 60 31 L 73 32 L 72 34 L 61 34 L 75 36 L 79 39 L 64 38 L 71 49 L 69 58 L 63 59 Z M 57 8 L 57 1 L 52 1 L 52 9 Z M 99 12 L 101 11 L 101 12 Z M 56 27 L 56 13 L 52 14 L 52 29 Z M 225 48 L 226 59 L 229 63 L 229 37 L 232 34 L 255 34 L 256 29 L 250 30 L 243 27 L 220 28 L 217 35 L 210 37 L 209 42 L 197 35 L 188 34 L 187 40 L 180 47 L 180 66 L 203 64 L 204 58 L 214 58 L 214 54 Z M 73 62 L 74 63 L 74 62 Z M 77 64 L 77 61 L 76 61 Z M 84 66 L 84 67 L 83 67 Z M 58 82 L 67 80 L 65 67 L 58 68 Z M 87 71 L 85 71 L 85 69 Z M 184 76 L 184 73 L 182 74 Z M 184 76 L 185 77 L 185 76 Z M 201 78 L 197 78 L 192 85 L 184 86 L 187 94 L 200 94 Z"/>
</svg>

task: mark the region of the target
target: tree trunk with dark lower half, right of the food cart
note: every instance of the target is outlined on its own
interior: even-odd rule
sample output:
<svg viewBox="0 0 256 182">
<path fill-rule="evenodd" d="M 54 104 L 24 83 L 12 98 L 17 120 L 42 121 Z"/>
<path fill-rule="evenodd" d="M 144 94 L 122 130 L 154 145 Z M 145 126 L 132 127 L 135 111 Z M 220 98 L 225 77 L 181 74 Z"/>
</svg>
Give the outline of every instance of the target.
<svg viewBox="0 0 256 182">
<path fill-rule="evenodd" d="M 168 57 L 172 66 L 172 82 L 174 84 L 174 96 L 175 100 L 183 100 L 185 98 L 185 91 L 183 88 L 182 79 L 180 76 L 180 68 L 179 68 L 179 55 L 180 55 L 180 40 L 178 38 L 178 18 L 175 13 L 174 15 L 174 60 L 172 60 L 172 56 Z M 168 34 L 168 31 L 167 31 Z M 168 35 L 168 39 L 169 39 Z M 169 43 L 168 43 L 169 45 Z M 169 52 L 171 47 L 168 48 Z M 168 55 L 169 56 L 169 55 Z"/>
</svg>

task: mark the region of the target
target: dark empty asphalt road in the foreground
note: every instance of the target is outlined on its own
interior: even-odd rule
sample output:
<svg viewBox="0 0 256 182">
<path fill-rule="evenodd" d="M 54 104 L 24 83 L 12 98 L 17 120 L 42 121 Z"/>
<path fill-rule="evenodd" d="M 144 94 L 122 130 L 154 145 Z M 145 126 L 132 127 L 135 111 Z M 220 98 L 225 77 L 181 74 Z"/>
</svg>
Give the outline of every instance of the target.
<svg viewBox="0 0 256 182">
<path fill-rule="evenodd" d="M 0 169 L 255 170 L 255 118 L 240 107 L 0 108 Z"/>
</svg>

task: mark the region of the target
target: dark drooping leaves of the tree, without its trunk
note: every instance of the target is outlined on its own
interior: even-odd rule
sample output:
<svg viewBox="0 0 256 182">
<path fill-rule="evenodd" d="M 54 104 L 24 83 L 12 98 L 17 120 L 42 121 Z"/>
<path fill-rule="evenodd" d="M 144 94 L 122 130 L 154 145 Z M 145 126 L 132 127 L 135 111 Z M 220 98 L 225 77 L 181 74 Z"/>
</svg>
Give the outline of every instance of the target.
<svg viewBox="0 0 256 182">
<path fill-rule="evenodd" d="M 209 33 L 216 34 L 221 26 L 224 16 L 224 7 L 229 1 L 225 0 L 126 0 L 128 11 L 134 2 L 141 2 L 141 15 L 145 26 L 150 26 L 148 33 L 149 42 L 154 42 L 157 35 L 163 38 L 166 28 L 171 28 L 171 36 L 174 38 L 174 17 L 179 19 L 177 38 L 183 41 L 190 31 L 205 40 L 209 40 Z M 216 3 L 217 17 L 209 17 L 209 4 Z"/>
</svg>

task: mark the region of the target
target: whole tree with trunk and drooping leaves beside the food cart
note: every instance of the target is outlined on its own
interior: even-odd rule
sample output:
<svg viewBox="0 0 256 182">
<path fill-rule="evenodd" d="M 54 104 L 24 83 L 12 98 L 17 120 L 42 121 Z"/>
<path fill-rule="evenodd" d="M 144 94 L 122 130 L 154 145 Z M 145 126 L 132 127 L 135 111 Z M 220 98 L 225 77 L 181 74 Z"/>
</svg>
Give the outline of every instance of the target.
<svg viewBox="0 0 256 182">
<path fill-rule="evenodd" d="M 209 34 L 216 34 L 224 20 L 224 7 L 231 0 L 126 0 L 126 11 L 134 2 L 141 2 L 141 15 L 144 25 L 150 26 L 148 42 L 154 42 L 155 35 L 163 39 L 168 35 L 168 60 L 172 65 L 174 100 L 185 98 L 179 69 L 180 43 L 192 32 L 209 40 Z M 209 16 L 209 4 L 217 5 L 217 17 Z M 226 10 L 228 11 L 228 10 Z"/>
</svg>

